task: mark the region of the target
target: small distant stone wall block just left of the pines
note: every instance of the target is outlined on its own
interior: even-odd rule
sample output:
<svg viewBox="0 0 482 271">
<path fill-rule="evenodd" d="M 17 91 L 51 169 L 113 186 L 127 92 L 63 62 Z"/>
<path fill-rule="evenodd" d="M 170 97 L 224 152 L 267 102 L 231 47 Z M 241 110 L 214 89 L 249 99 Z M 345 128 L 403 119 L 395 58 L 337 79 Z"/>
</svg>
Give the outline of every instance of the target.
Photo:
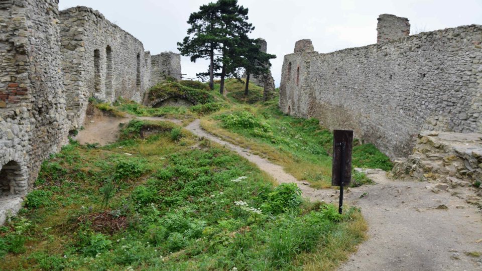
<svg viewBox="0 0 482 271">
<path fill-rule="evenodd" d="M 172 76 L 177 80 L 181 80 L 181 55 L 173 52 L 164 52 L 151 57 L 151 84 L 166 79 L 166 76 Z"/>
</svg>

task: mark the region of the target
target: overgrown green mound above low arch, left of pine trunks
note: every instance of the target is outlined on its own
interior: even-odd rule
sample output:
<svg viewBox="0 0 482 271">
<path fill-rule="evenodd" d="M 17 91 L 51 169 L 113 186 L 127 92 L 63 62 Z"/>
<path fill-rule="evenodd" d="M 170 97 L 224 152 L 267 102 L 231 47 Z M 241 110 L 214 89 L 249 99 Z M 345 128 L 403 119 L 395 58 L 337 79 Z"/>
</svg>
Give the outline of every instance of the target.
<svg viewBox="0 0 482 271">
<path fill-rule="evenodd" d="M 176 97 L 188 100 L 193 104 L 204 104 L 214 101 L 214 97 L 203 89 L 185 86 L 178 82 L 162 82 L 149 89 L 149 100 Z"/>
</svg>

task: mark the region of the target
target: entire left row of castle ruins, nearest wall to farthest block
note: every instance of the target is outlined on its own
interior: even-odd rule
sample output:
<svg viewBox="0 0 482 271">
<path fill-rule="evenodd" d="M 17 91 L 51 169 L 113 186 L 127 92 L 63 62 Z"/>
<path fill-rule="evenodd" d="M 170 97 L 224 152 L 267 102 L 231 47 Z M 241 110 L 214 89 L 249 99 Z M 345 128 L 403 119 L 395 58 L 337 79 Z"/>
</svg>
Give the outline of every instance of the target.
<svg viewBox="0 0 482 271">
<path fill-rule="evenodd" d="M 58 0 L 0 1 L 0 28 L 2 224 L 33 188 L 42 161 L 82 126 L 90 97 L 142 102 L 181 65 L 179 54 L 151 56 L 98 11 L 59 12 Z"/>
</svg>

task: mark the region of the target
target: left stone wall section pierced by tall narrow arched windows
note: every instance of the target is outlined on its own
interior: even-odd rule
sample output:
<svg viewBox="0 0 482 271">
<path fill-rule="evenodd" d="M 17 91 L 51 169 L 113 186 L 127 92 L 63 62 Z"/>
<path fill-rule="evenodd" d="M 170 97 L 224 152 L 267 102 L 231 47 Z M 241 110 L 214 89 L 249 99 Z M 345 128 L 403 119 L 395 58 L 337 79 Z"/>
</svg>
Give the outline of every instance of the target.
<svg viewBox="0 0 482 271">
<path fill-rule="evenodd" d="M 138 39 L 86 7 L 61 11 L 60 21 L 72 128 L 82 125 L 89 97 L 142 101 L 150 87 L 150 63 Z"/>
</svg>

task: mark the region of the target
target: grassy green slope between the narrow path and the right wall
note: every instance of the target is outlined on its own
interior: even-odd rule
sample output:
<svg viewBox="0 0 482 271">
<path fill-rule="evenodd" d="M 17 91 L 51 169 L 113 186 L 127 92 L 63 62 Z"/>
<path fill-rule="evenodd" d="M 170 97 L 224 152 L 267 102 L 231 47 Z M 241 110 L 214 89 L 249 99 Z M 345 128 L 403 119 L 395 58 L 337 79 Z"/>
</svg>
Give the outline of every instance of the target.
<svg viewBox="0 0 482 271">
<path fill-rule="evenodd" d="M 237 105 L 206 117 L 203 128 L 222 135 L 231 143 L 249 148 L 284 166 L 297 179 L 315 188 L 331 183 L 333 134 L 314 118 L 283 114 L 276 101 L 257 105 Z M 390 159 L 371 144 L 353 147 L 353 167 L 390 170 Z"/>
</svg>

